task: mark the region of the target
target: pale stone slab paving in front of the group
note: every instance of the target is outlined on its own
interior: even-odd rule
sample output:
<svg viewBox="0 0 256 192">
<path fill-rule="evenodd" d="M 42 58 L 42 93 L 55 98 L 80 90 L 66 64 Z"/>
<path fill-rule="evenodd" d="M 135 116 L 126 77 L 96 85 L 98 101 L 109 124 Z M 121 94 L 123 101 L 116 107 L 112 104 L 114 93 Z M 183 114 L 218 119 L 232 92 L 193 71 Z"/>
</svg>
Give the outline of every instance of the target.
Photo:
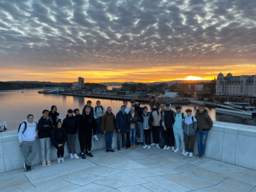
<svg viewBox="0 0 256 192">
<path fill-rule="evenodd" d="M 256 170 L 214 159 L 184 157 L 152 147 L 93 151 L 86 159 L 65 158 L 0 174 L 0 191 L 198 191 L 256 192 Z"/>
</svg>

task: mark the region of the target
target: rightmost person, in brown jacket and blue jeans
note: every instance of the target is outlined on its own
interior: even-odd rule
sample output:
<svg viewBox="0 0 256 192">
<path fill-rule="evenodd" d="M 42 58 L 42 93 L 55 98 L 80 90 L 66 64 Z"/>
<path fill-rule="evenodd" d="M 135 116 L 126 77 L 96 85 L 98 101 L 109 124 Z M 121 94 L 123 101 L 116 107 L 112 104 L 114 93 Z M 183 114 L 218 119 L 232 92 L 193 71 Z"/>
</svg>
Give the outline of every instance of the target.
<svg viewBox="0 0 256 192">
<path fill-rule="evenodd" d="M 196 133 L 198 136 L 198 158 L 203 159 L 205 157 L 208 132 L 214 125 L 214 122 L 211 120 L 209 111 L 202 104 L 198 106 L 195 112 L 195 118 L 198 121 L 198 131 Z"/>
</svg>

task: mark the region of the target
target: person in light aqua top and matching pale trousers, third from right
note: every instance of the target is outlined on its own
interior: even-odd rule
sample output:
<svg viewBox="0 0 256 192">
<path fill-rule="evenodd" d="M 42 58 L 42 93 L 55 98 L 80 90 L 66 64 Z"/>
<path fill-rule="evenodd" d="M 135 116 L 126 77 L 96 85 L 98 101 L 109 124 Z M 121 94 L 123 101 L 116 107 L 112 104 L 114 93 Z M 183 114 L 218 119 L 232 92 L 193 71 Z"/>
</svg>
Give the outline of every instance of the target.
<svg viewBox="0 0 256 192">
<path fill-rule="evenodd" d="M 179 151 L 179 141 L 182 141 L 182 154 L 186 152 L 185 150 L 185 143 L 184 143 L 184 133 L 182 129 L 182 122 L 184 118 L 186 118 L 186 115 L 182 112 L 182 108 L 180 106 L 176 106 L 176 113 L 174 114 L 174 125 L 173 125 L 173 133 L 175 136 L 176 141 L 176 150 L 174 152 Z"/>
</svg>

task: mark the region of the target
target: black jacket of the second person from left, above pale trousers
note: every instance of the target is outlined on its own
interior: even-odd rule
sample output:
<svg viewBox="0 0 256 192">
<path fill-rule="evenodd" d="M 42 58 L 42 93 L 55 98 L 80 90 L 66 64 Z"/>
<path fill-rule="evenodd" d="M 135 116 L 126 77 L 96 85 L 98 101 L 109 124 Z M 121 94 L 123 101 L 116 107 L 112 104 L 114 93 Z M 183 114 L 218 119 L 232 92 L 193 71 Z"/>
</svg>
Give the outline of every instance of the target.
<svg viewBox="0 0 256 192">
<path fill-rule="evenodd" d="M 45 119 L 43 116 L 38 121 L 38 138 L 51 137 L 51 131 L 54 129 L 50 118 Z"/>
</svg>

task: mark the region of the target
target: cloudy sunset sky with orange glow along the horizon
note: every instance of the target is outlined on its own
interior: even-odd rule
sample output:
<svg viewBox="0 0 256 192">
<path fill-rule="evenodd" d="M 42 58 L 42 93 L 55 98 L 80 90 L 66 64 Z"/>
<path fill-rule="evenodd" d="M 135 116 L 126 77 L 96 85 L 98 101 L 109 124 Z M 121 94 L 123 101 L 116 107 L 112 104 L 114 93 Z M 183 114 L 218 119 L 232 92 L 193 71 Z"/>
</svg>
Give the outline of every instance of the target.
<svg viewBox="0 0 256 192">
<path fill-rule="evenodd" d="M 0 0 L 0 81 L 256 74 L 255 0 Z"/>
</svg>

